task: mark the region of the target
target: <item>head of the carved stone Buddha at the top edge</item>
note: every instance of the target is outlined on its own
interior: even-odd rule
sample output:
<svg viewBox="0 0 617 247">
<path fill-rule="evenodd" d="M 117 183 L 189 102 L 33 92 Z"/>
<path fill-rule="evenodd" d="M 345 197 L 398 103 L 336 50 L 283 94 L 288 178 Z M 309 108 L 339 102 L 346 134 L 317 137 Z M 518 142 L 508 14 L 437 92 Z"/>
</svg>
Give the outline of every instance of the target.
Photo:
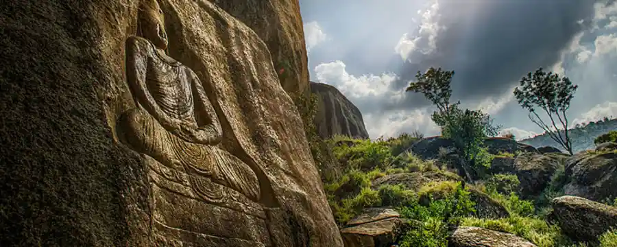
<svg viewBox="0 0 617 247">
<path fill-rule="evenodd" d="M 139 22 L 143 38 L 150 40 L 158 49 L 167 48 L 167 33 L 160 5 L 156 0 L 143 0 L 139 10 Z"/>
</svg>

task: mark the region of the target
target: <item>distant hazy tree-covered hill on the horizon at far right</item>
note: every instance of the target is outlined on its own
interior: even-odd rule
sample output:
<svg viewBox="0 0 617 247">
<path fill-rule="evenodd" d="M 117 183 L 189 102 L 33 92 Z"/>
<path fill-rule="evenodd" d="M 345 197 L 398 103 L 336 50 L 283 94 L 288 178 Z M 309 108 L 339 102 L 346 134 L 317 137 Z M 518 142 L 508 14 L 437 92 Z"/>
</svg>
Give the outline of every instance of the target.
<svg viewBox="0 0 617 247">
<path fill-rule="evenodd" d="M 571 129 L 568 134 L 572 138 L 572 151 L 579 152 L 582 150 L 593 149 L 595 147 L 594 139 L 611 130 L 617 130 L 617 119 L 605 119 L 590 122 L 585 126 Z M 559 150 L 564 150 L 564 148 L 561 148 L 561 146 L 557 142 L 553 141 L 548 134 L 540 134 L 529 139 L 523 139 L 520 142 L 533 145 L 535 148 L 553 146 L 555 148 L 559 148 Z"/>
</svg>

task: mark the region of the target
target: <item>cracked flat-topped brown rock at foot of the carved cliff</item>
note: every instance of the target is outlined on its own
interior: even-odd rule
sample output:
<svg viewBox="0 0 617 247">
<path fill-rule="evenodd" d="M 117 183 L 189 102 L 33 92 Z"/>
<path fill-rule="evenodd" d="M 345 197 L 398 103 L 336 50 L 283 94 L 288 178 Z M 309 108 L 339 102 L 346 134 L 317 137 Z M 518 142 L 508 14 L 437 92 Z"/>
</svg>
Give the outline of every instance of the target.
<svg viewBox="0 0 617 247">
<path fill-rule="evenodd" d="M 390 247 L 400 234 L 403 221 L 392 209 L 365 209 L 341 229 L 346 247 Z"/>
</svg>

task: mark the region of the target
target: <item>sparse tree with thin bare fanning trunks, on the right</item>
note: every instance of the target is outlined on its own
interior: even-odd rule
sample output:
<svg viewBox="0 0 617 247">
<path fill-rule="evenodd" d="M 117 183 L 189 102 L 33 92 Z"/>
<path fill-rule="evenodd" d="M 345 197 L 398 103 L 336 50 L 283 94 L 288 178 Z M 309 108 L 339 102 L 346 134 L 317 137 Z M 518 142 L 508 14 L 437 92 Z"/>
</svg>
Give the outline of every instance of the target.
<svg viewBox="0 0 617 247">
<path fill-rule="evenodd" d="M 529 110 L 529 119 L 540 126 L 551 139 L 572 154 L 572 142 L 568 136 L 568 117 L 566 111 L 578 86 L 572 85 L 567 77 L 557 73 L 544 72 L 542 68 L 534 73 L 527 73 L 520 80 L 520 86 L 514 89 L 514 96 L 522 108 Z M 546 124 L 538 111 L 543 111 L 551 120 Z M 560 128 L 564 130 L 561 131 Z"/>
</svg>

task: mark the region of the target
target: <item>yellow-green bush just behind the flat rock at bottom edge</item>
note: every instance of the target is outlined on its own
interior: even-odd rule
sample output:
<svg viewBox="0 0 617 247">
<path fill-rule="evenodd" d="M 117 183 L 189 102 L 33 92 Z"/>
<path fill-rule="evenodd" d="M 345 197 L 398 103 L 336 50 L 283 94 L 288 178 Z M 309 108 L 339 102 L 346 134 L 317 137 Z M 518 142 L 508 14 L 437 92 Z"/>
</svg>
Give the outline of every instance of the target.
<svg viewBox="0 0 617 247">
<path fill-rule="evenodd" d="M 561 235 L 559 226 L 549 225 L 544 220 L 533 217 L 511 215 L 501 219 L 479 219 L 466 217 L 461 221 L 462 226 L 478 226 L 493 231 L 512 233 L 528 239 L 539 247 L 568 246 L 571 240 Z"/>
</svg>

